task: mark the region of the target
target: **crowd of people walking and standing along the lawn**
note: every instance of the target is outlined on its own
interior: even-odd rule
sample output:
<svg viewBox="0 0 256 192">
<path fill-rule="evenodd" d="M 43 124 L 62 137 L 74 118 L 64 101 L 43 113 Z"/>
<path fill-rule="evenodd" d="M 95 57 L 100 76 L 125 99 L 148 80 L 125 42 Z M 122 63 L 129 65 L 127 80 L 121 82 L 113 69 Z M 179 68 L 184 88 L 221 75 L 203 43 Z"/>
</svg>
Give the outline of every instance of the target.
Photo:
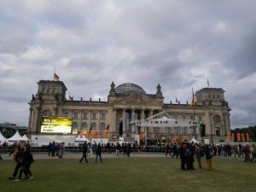
<svg viewBox="0 0 256 192">
<path fill-rule="evenodd" d="M 156 146 L 147 146 L 147 148 L 155 148 Z M 181 170 L 187 172 L 195 171 L 195 161 L 198 167 L 197 171 L 202 170 L 201 159 L 205 158 L 207 161 L 207 170 L 212 171 L 212 157 L 223 156 L 235 158 L 244 158 L 245 162 L 256 162 L 256 146 L 253 143 L 252 146 L 246 144 L 201 144 L 201 143 L 166 143 L 165 145 L 158 145 L 160 148 L 165 148 L 166 156 L 170 155 L 172 158 L 180 159 Z M 1 148 L 1 147 L 0 147 Z M 96 154 L 96 162 L 102 162 L 102 150 L 108 154 L 115 154 L 116 156 L 125 155 L 130 157 L 131 150 L 143 148 L 137 146 L 136 143 L 80 143 L 79 148 L 82 152 L 82 157 L 79 163 L 85 160 L 88 163 L 87 157 L 92 157 Z M 58 156 L 63 158 L 65 150 L 65 143 L 49 143 L 48 155 Z M 33 160 L 31 153 L 31 146 L 29 143 L 15 143 L 9 151 L 9 156 L 13 155 L 15 160 L 15 170 L 9 179 L 14 179 L 15 182 L 19 182 L 22 174 L 28 180 L 32 180 L 34 177 L 31 172 L 31 165 Z M 0 160 L 2 159 L 0 155 Z"/>
</svg>

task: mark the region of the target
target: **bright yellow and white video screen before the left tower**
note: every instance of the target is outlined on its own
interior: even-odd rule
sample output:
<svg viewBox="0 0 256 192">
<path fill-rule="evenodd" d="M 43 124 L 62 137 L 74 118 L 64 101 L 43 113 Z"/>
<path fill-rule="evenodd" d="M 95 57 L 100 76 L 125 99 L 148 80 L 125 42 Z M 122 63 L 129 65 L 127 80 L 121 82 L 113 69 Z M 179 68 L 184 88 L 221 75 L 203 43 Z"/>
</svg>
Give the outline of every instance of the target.
<svg viewBox="0 0 256 192">
<path fill-rule="evenodd" d="M 72 119 L 68 117 L 43 116 L 41 133 L 71 133 Z"/>
</svg>

